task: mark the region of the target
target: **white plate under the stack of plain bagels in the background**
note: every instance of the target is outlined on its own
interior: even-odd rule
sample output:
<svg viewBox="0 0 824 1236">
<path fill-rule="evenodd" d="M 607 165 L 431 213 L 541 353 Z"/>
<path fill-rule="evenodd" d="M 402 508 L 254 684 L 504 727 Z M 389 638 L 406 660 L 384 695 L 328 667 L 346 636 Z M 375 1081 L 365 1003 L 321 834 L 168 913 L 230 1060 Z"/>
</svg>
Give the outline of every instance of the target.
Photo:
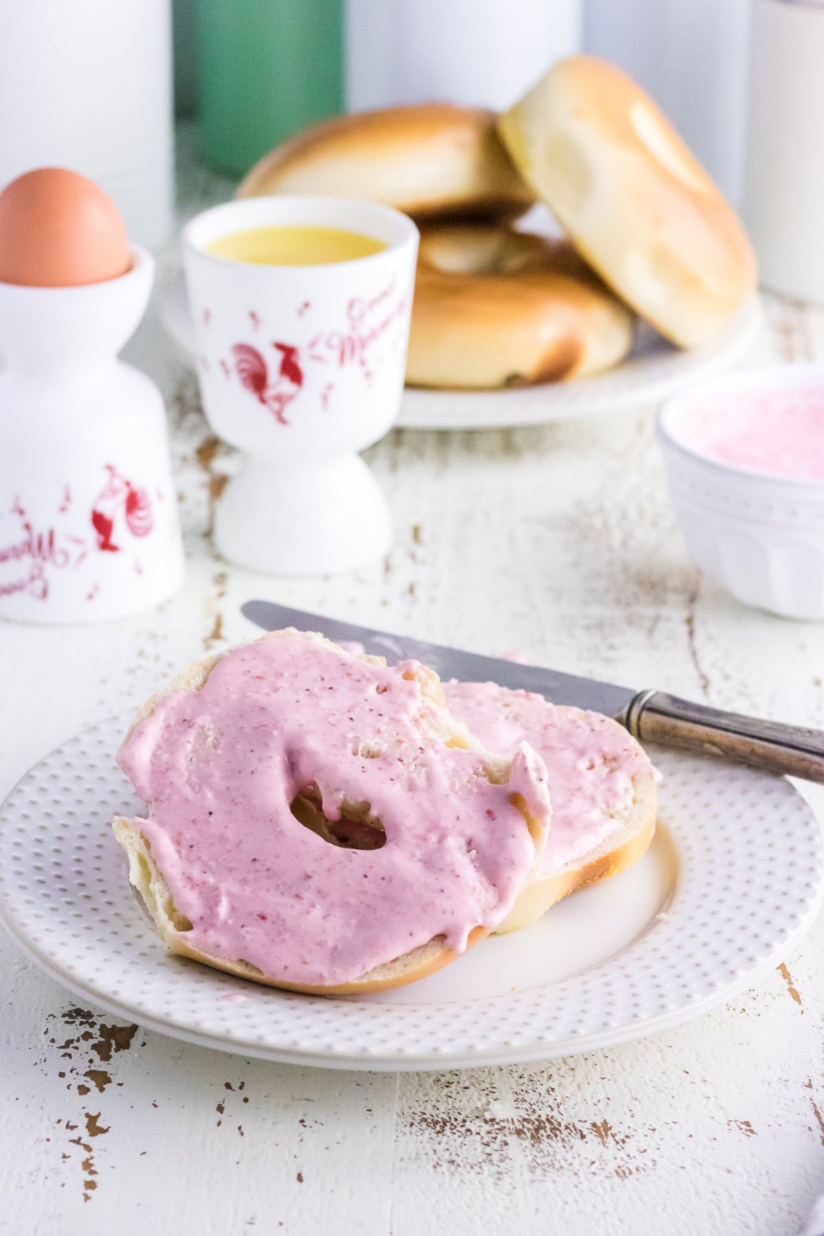
<svg viewBox="0 0 824 1236">
<path fill-rule="evenodd" d="M 179 272 L 167 272 L 161 315 L 180 355 L 194 363 L 194 331 Z M 399 429 L 514 429 L 657 403 L 735 365 L 752 345 L 760 325 L 759 300 L 754 298 L 709 344 L 684 352 L 639 323 L 629 357 L 600 377 L 511 391 L 406 389 L 397 425 Z"/>
</svg>

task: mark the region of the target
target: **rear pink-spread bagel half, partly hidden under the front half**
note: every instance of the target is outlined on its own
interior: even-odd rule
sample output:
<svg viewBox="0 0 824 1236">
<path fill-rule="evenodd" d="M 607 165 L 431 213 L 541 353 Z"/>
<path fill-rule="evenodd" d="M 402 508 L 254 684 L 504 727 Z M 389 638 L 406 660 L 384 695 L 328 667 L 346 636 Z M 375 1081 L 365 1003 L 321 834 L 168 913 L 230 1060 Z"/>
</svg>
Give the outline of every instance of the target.
<svg viewBox="0 0 824 1236">
<path fill-rule="evenodd" d="M 657 772 L 623 726 L 495 682 L 445 682 L 448 708 L 497 751 L 544 759 L 552 827 L 539 870 L 498 932 L 528 927 L 576 889 L 636 863 L 655 833 Z"/>
</svg>

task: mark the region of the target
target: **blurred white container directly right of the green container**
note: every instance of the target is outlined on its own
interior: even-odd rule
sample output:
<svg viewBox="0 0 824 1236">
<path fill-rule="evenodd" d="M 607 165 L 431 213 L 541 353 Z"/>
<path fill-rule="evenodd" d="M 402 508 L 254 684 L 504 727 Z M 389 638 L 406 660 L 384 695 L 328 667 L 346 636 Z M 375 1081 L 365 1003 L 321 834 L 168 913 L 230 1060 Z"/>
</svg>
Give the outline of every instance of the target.
<svg viewBox="0 0 824 1236">
<path fill-rule="evenodd" d="M 350 111 L 510 108 L 581 49 L 582 0 L 346 0 Z"/>
</svg>

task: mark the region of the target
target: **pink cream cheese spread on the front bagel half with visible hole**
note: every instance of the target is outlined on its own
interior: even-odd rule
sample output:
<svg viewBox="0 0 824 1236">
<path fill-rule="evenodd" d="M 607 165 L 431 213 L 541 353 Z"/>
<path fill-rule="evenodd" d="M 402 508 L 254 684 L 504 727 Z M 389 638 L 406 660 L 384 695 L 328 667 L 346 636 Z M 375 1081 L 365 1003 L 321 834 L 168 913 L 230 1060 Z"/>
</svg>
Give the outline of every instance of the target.
<svg viewBox="0 0 824 1236">
<path fill-rule="evenodd" d="M 332 986 L 437 936 L 460 952 L 505 917 L 536 861 L 518 802 L 549 822 L 544 766 L 515 743 L 492 784 L 483 753 L 435 735 L 410 666 L 267 637 L 137 724 L 119 763 L 189 946 Z M 361 805 L 385 843 L 331 844 L 293 815 L 301 792 L 332 822 Z"/>
</svg>

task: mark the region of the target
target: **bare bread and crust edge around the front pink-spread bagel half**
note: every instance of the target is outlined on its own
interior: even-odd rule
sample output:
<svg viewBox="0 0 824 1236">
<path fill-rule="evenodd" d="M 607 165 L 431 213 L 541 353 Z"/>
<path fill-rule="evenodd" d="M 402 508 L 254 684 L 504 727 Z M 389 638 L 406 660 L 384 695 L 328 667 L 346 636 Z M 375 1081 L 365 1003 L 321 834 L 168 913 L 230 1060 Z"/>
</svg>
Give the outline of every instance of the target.
<svg viewBox="0 0 824 1236">
<path fill-rule="evenodd" d="M 262 639 L 284 639 L 296 635 L 304 639 L 320 641 L 325 645 L 336 646 L 320 634 L 296 632 L 293 629 L 271 632 L 268 635 L 263 635 Z M 167 687 L 153 695 L 135 717 L 128 729 L 128 735 L 131 735 L 135 727 L 138 726 L 141 721 L 145 721 L 154 712 L 154 708 L 163 698 L 166 698 L 166 696 L 200 690 L 211 670 L 215 665 L 217 665 L 224 655 L 224 653 L 217 653 L 194 662 L 173 679 Z M 385 664 L 384 658 L 369 656 L 364 654 L 361 659 L 376 664 Z M 451 745 L 456 747 L 481 749 L 479 744 L 476 743 L 466 727 L 448 714 L 446 700 L 437 676 L 425 666 L 419 666 L 415 671 L 415 676 L 419 677 L 425 701 L 431 702 L 439 709 L 444 709 L 448 717 L 450 733 L 444 734 L 444 740 L 448 740 Z M 498 758 L 489 756 L 489 772 L 493 777 L 495 775 L 503 775 L 508 765 L 509 760 L 499 760 Z M 536 845 L 537 860 L 541 843 L 544 840 L 542 826 L 539 821 L 531 818 L 519 795 L 513 795 L 511 802 L 521 811 L 524 818 L 526 819 L 530 836 Z M 200 949 L 193 948 L 188 943 L 185 934 L 187 931 L 190 929 L 191 925 L 183 920 L 175 910 L 172 892 L 163 878 L 162 871 L 153 859 L 151 845 L 141 832 L 140 826 L 140 818 L 126 819 L 119 816 L 112 823 L 112 831 L 115 838 L 124 848 L 128 858 L 130 883 L 138 891 L 143 905 L 153 920 L 154 926 L 167 948 L 170 953 L 179 957 L 188 957 L 191 960 L 201 962 L 214 969 L 224 970 L 227 974 L 235 974 L 240 978 L 261 983 L 264 986 L 282 988 L 288 991 L 301 991 L 310 995 L 334 996 L 387 991 L 392 988 L 405 986 L 409 983 L 416 983 L 419 979 L 426 978 L 429 974 L 434 974 L 436 970 L 448 965 L 450 962 L 453 962 L 456 957 L 460 955 L 453 949 L 445 946 L 444 937 L 437 936 L 426 944 L 410 949 L 401 957 L 376 967 L 366 974 L 359 975 L 357 979 L 348 983 L 321 986 L 315 984 L 283 983 L 263 974 L 263 971 L 258 970 L 257 967 L 250 965 L 248 962 L 240 958 L 226 959 L 204 953 Z M 484 926 L 476 926 L 468 934 L 467 948 L 471 948 L 488 934 L 489 928 Z"/>
</svg>

